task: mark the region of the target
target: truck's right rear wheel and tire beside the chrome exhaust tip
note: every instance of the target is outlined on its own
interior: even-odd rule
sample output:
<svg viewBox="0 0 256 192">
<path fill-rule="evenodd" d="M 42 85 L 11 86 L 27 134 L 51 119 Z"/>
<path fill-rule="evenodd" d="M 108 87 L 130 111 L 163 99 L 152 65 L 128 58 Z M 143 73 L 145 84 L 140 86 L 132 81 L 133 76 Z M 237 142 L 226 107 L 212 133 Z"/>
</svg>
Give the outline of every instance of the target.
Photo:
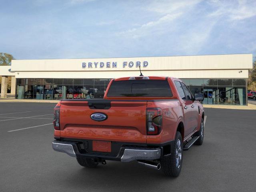
<svg viewBox="0 0 256 192">
<path fill-rule="evenodd" d="M 171 154 L 162 157 L 160 160 L 161 169 L 166 176 L 178 177 L 182 167 L 182 160 L 183 141 L 180 132 L 177 131 Z"/>
</svg>

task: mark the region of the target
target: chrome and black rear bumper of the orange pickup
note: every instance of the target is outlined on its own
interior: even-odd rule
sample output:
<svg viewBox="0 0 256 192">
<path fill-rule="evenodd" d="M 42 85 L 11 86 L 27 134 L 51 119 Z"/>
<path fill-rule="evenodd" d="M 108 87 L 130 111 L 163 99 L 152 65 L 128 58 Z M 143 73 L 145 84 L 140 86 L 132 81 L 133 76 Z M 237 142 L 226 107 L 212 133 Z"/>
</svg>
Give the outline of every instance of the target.
<svg viewBox="0 0 256 192">
<path fill-rule="evenodd" d="M 55 151 L 63 152 L 72 157 L 87 157 L 87 158 L 101 158 L 106 160 L 118 160 L 121 162 L 130 162 L 133 160 L 156 160 L 162 156 L 161 148 L 147 148 L 147 147 L 121 147 L 117 155 L 104 154 L 104 153 L 80 153 L 78 150 L 77 142 L 63 142 L 53 141 L 52 148 Z"/>
</svg>

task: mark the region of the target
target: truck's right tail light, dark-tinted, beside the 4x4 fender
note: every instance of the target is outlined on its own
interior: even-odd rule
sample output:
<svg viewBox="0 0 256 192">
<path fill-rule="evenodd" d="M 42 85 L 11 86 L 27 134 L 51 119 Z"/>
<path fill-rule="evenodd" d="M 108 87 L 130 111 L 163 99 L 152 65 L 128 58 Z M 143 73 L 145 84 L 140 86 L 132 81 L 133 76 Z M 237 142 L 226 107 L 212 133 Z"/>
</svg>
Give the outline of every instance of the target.
<svg viewBox="0 0 256 192">
<path fill-rule="evenodd" d="M 162 130 L 162 110 L 160 108 L 147 108 L 146 118 L 147 134 L 159 134 Z"/>
</svg>

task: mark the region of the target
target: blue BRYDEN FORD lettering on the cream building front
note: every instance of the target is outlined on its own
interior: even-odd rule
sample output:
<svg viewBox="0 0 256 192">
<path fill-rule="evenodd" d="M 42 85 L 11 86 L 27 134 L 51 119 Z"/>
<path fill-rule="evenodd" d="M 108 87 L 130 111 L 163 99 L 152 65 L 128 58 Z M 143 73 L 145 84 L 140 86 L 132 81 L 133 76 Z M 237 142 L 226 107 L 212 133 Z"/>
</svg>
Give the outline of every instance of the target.
<svg viewBox="0 0 256 192">
<path fill-rule="evenodd" d="M 136 61 L 136 62 L 127 62 L 124 61 L 121 64 L 123 66 L 123 68 L 126 67 L 147 67 L 148 66 L 148 62 L 147 61 Z M 118 62 L 83 62 L 82 63 L 82 68 L 117 68 L 118 66 Z"/>
</svg>

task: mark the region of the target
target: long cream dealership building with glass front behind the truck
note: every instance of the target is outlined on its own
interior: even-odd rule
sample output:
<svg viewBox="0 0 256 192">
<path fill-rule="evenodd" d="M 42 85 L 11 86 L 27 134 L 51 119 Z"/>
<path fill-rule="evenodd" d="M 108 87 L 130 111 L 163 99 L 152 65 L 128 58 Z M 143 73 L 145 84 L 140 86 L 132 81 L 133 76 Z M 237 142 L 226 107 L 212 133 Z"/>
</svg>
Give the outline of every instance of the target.
<svg viewBox="0 0 256 192">
<path fill-rule="evenodd" d="M 0 66 L 1 97 L 10 92 L 16 99 L 103 98 L 112 78 L 139 76 L 139 66 L 144 76 L 180 78 L 192 94 L 204 94 L 204 104 L 247 105 L 252 54 L 12 60 Z"/>
</svg>

